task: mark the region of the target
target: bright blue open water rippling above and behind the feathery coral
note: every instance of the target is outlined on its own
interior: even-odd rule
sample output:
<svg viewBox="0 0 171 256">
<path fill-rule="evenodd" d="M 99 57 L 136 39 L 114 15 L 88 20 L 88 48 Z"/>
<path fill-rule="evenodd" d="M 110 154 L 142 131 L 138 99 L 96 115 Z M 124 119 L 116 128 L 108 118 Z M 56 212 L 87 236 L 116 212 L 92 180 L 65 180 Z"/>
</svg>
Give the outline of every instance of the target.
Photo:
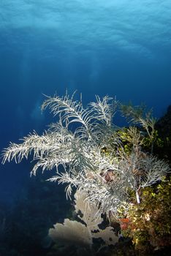
<svg viewBox="0 0 171 256">
<path fill-rule="evenodd" d="M 78 90 L 145 102 L 160 117 L 171 103 L 170 0 L 1 0 L 0 149 L 52 121 L 43 94 Z M 1 165 L 0 198 L 20 193 L 29 162 Z"/>
</svg>

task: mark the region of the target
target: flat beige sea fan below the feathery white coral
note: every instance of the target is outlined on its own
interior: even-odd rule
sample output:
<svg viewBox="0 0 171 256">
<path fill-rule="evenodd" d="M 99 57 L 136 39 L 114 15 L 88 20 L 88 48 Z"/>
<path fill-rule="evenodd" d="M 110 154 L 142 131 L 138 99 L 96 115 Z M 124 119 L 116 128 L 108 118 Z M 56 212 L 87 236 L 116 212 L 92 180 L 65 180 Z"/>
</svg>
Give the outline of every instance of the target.
<svg viewBox="0 0 171 256">
<path fill-rule="evenodd" d="M 101 229 L 99 226 L 103 218 L 96 217 L 98 209 L 93 203 L 85 203 L 86 193 L 75 193 L 75 212 L 79 221 L 64 219 L 64 224 L 56 223 L 49 230 L 49 236 L 57 244 L 75 245 L 85 250 L 86 255 L 96 255 L 102 248 L 114 245 L 118 242 L 113 227 Z M 81 221 L 81 222 L 80 222 Z M 94 248 L 94 240 L 101 238 L 98 250 Z M 77 253 L 75 253 L 77 255 Z M 79 254 L 80 255 L 80 254 Z"/>
</svg>

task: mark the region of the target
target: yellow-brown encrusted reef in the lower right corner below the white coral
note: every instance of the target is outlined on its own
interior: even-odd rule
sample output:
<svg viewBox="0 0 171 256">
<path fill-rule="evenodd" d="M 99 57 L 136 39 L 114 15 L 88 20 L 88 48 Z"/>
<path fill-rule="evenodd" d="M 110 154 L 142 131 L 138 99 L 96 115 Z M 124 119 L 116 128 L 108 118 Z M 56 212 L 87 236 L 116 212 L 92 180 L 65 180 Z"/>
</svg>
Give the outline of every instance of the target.
<svg viewBox="0 0 171 256">
<path fill-rule="evenodd" d="M 170 193 L 170 178 L 142 189 L 141 204 L 132 202 L 123 219 L 126 223 L 121 225 L 123 236 L 132 238 L 138 255 L 153 255 L 171 245 Z"/>
</svg>

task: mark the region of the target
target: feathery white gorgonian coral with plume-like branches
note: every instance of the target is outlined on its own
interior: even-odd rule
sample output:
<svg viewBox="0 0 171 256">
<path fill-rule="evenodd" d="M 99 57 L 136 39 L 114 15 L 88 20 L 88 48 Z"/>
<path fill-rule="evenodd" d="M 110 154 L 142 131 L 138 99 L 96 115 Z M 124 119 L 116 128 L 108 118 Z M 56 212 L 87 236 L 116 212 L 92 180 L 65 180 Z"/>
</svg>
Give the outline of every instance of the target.
<svg viewBox="0 0 171 256">
<path fill-rule="evenodd" d="M 141 151 L 143 139 L 136 127 L 129 127 L 133 146 L 126 154 L 118 136 L 120 128 L 113 125 L 118 102 L 108 96 L 102 100 L 96 96 L 96 102 L 83 108 L 81 100 L 74 97 L 67 93 L 64 97 L 47 97 L 42 110 L 50 108 L 58 122 L 50 124 L 43 135 L 33 132 L 23 138 L 23 143 L 10 143 L 4 149 L 2 162 L 20 162 L 31 155 L 36 160 L 32 174 L 36 175 L 39 167 L 43 171 L 56 168 L 56 176 L 50 181 L 67 184 L 67 197 L 76 187 L 86 192 L 87 201 L 98 206 L 99 214 L 117 215 L 118 207 L 126 206 L 128 189 L 134 189 L 140 203 L 140 188 L 159 181 L 170 167 Z M 150 117 L 142 120 L 141 116 L 144 127 L 148 128 L 150 121 Z"/>
</svg>

